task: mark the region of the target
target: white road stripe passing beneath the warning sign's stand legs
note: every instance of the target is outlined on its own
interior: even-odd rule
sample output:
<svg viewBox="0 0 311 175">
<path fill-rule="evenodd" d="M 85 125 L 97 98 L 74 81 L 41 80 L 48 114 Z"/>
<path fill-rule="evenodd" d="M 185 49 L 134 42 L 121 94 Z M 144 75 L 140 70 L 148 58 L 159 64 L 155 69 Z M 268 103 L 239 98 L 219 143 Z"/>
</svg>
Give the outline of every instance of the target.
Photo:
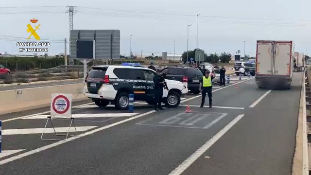
<svg viewBox="0 0 311 175">
<path fill-rule="evenodd" d="M 97 126 L 77 126 L 78 132 L 86 131 Z M 18 134 L 42 134 L 44 128 L 28 128 L 28 129 L 3 129 L 2 135 L 18 135 Z M 69 127 L 55 127 L 56 133 L 68 132 Z M 74 127 L 70 128 L 70 132 L 75 132 Z M 53 128 L 45 128 L 44 133 L 54 133 Z"/>
</svg>

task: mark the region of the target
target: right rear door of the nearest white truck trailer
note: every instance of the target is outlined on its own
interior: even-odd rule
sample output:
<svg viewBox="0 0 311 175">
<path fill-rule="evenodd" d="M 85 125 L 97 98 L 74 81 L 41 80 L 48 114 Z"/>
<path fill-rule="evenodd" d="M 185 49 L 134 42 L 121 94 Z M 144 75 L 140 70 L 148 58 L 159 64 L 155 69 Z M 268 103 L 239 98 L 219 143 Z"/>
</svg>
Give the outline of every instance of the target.
<svg viewBox="0 0 311 175">
<path fill-rule="evenodd" d="M 274 75 L 291 75 L 292 41 L 276 41 L 274 47 Z"/>
</svg>

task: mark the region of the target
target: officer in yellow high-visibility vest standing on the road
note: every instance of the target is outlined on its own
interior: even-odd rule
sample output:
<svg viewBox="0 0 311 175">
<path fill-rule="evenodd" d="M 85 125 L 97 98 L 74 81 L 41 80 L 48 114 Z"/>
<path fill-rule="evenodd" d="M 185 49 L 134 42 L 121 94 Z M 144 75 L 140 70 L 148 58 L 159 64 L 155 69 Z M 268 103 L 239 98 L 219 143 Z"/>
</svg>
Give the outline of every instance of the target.
<svg viewBox="0 0 311 175">
<path fill-rule="evenodd" d="M 200 80 L 200 91 L 202 92 L 202 103 L 200 107 L 203 107 L 205 102 L 206 93 L 208 96 L 209 107 L 212 107 L 212 80 L 214 79 L 214 75 L 211 74 L 209 70 L 205 71 L 205 76 Z"/>
</svg>

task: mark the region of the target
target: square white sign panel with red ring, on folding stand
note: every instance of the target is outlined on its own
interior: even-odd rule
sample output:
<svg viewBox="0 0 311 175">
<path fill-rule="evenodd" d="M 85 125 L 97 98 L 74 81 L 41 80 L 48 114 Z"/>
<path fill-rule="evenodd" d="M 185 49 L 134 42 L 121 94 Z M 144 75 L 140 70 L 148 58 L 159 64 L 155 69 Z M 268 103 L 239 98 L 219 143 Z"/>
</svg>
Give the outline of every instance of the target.
<svg viewBox="0 0 311 175">
<path fill-rule="evenodd" d="M 72 94 L 52 93 L 51 117 L 71 117 Z"/>
</svg>

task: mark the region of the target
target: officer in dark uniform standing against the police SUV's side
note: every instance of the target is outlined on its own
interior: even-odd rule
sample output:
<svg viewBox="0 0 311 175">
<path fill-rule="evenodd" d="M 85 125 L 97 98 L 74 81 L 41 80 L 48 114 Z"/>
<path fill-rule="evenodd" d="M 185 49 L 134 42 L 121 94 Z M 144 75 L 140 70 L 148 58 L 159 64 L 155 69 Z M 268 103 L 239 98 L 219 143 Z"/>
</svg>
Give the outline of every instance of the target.
<svg viewBox="0 0 311 175">
<path fill-rule="evenodd" d="M 155 84 L 155 110 L 158 111 L 163 110 L 164 108 L 161 106 L 162 96 L 163 96 L 163 88 L 164 88 L 164 77 L 162 77 L 159 73 L 156 73 L 154 76 L 154 84 Z"/>
</svg>

